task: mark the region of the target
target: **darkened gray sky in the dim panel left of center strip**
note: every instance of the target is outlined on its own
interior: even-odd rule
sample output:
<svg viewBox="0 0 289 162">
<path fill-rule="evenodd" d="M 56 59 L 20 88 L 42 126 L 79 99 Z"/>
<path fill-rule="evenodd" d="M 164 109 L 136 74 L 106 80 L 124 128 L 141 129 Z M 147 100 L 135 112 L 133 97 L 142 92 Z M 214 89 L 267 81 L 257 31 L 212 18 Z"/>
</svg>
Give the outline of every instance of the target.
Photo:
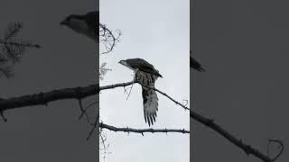
<svg viewBox="0 0 289 162">
<path fill-rule="evenodd" d="M 42 49 L 25 52 L 22 62 L 14 67 L 15 77 L 0 80 L 0 96 L 95 84 L 95 42 L 61 28 L 60 22 L 68 14 L 95 10 L 96 4 L 95 0 L 2 0 L 0 31 L 11 22 L 23 22 L 21 36 L 42 45 Z M 78 121 L 79 114 L 74 100 L 5 112 L 8 122 L 0 121 L 0 161 L 97 161 L 98 137 L 86 141 L 90 129 L 86 121 Z"/>
</svg>

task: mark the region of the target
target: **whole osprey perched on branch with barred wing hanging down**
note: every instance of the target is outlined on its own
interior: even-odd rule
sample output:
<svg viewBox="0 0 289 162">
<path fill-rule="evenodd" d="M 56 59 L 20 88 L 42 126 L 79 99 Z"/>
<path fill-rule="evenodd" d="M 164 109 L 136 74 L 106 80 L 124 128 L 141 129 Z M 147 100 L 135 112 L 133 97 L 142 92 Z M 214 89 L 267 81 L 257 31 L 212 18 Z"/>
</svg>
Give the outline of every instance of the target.
<svg viewBox="0 0 289 162">
<path fill-rule="evenodd" d="M 163 77 L 154 66 L 142 58 L 120 60 L 118 63 L 135 72 L 135 81 L 142 84 L 144 121 L 151 126 L 155 122 L 158 111 L 158 98 L 154 91 L 154 83 L 158 77 Z M 147 87 L 145 87 L 145 86 Z M 150 87 L 150 88 L 149 88 Z"/>
</svg>

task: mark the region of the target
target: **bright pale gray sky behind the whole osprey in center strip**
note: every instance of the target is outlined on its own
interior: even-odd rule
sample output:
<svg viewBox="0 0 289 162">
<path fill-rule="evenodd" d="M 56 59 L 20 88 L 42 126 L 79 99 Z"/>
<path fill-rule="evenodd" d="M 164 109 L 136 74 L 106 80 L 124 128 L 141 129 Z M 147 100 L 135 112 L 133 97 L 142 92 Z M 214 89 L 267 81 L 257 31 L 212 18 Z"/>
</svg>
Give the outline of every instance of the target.
<svg viewBox="0 0 289 162">
<path fill-rule="evenodd" d="M 106 0 L 100 1 L 100 23 L 123 35 L 117 48 L 103 55 L 100 62 L 112 68 L 101 85 L 128 82 L 132 71 L 117 62 L 126 58 L 144 58 L 160 71 L 163 78 L 156 88 L 180 101 L 190 98 L 190 8 L 189 0 Z M 152 128 L 190 129 L 189 112 L 158 94 L 159 111 Z M 134 85 L 126 100 L 123 88 L 100 94 L 100 119 L 117 127 L 148 128 L 144 123 L 140 85 Z M 190 105 L 190 101 L 189 104 Z M 190 160 L 190 135 L 180 133 L 141 134 L 105 131 L 110 144 L 106 161 L 159 162 Z"/>
</svg>

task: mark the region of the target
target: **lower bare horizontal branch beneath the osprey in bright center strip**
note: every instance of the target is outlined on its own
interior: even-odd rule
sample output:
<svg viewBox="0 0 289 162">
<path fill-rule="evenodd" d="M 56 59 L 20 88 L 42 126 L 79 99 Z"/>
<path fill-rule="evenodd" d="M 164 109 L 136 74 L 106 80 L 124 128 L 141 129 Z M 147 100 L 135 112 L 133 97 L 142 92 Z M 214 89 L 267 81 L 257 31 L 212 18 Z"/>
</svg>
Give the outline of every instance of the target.
<svg viewBox="0 0 289 162">
<path fill-rule="evenodd" d="M 135 132 L 135 133 L 141 133 L 144 136 L 144 132 L 164 132 L 164 133 L 168 133 L 168 132 L 180 132 L 180 133 L 189 133 L 190 134 L 190 130 L 173 130 L 173 129 L 133 129 L 133 128 L 117 128 L 115 126 L 111 126 L 111 125 L 107 125 L 103 122 L 99 123 L 99 127 L 102 129 L 107 129 L 107 130 L 113 130 L 113 131 L 123 131 L 123 132 Z"/>
</svg>

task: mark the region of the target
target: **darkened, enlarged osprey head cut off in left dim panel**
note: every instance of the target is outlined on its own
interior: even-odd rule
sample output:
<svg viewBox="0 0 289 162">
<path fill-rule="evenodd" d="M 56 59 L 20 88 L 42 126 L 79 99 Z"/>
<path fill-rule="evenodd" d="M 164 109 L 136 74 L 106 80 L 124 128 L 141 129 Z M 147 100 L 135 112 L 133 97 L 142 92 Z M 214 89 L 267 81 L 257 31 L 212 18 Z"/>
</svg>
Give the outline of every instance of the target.
<svg viewBox="0 0 289 162">
<path fill-rule="evenodd" d="M 68 26 L 71 30 L 89 37 L 89 39 L 99 42 L 99 12 L 89 12 L 88 14 L 70 14 L 61 25 Z"/>
</svg>

